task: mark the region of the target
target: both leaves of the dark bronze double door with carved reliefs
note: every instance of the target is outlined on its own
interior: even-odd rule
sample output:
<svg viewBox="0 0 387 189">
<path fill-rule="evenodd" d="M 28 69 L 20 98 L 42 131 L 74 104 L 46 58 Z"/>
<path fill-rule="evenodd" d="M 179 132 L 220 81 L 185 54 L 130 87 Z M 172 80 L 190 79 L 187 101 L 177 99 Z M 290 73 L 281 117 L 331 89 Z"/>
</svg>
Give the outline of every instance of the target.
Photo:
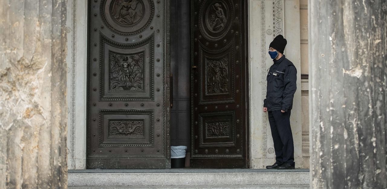
<svg viewBox="0 0 387 189">
<path fill-rule="evenodd" d="M 170 168 L 170 3 L 88 1 L 88 169 Z M 246 2 L 190 9 L 190 165 L 247 167 Z"/>
</svg>

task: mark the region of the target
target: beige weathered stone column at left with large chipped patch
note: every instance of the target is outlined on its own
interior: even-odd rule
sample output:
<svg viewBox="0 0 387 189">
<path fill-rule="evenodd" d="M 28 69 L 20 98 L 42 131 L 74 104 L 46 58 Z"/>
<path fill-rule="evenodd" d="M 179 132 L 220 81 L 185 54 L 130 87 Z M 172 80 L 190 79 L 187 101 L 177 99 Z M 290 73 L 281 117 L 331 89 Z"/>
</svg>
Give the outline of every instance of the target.
<svg viewBox="0 0 387 189">
<path fill-rule="evenodd" d="M 0 188 L 67 188 L 65 0 L 0 0 Z"/>
</svg>

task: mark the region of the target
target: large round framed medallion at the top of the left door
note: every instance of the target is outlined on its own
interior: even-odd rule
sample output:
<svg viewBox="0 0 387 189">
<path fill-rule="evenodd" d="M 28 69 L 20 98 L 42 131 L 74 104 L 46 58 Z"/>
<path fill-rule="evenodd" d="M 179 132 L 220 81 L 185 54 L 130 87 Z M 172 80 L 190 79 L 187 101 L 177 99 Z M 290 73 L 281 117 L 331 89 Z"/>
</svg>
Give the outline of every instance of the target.
<svg viewBox="0 0 387 189">
<path fill-rule="evenodd" d="M 135 35 L 152 22 L 153 0 L 102 0 L 101 18 L 113 32 Z"/>
</svg>

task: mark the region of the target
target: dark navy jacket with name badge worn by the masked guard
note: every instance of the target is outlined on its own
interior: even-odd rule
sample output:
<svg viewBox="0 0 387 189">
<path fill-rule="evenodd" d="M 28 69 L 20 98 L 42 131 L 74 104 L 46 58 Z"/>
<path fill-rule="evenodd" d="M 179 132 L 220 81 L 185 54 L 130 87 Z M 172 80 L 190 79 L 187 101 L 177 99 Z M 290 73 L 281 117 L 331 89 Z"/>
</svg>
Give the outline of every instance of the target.
<svg viewBox="0 0 387 189">
<path fill-rule="evenodd" d="M 267 111 L 290 110 L 296 92 L 297 70 L 292 62 L 285 58 L 275 60 L 267 74 L 267 94 L 264 107 Z"/>
</svg>

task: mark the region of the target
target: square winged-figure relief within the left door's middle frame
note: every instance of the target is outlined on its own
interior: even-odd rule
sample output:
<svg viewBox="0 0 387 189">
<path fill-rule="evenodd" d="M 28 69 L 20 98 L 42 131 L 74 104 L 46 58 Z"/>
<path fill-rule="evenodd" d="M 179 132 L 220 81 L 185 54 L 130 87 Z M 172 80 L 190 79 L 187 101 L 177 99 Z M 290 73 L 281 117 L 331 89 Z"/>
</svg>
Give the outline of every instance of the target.
<svg viewBox="0 0 387 189">
<path fill-rule="evenodd" d="M 144 92 L 144 52 L 118 54 L 109 52 L 109 90 Z"/>
</svg>

